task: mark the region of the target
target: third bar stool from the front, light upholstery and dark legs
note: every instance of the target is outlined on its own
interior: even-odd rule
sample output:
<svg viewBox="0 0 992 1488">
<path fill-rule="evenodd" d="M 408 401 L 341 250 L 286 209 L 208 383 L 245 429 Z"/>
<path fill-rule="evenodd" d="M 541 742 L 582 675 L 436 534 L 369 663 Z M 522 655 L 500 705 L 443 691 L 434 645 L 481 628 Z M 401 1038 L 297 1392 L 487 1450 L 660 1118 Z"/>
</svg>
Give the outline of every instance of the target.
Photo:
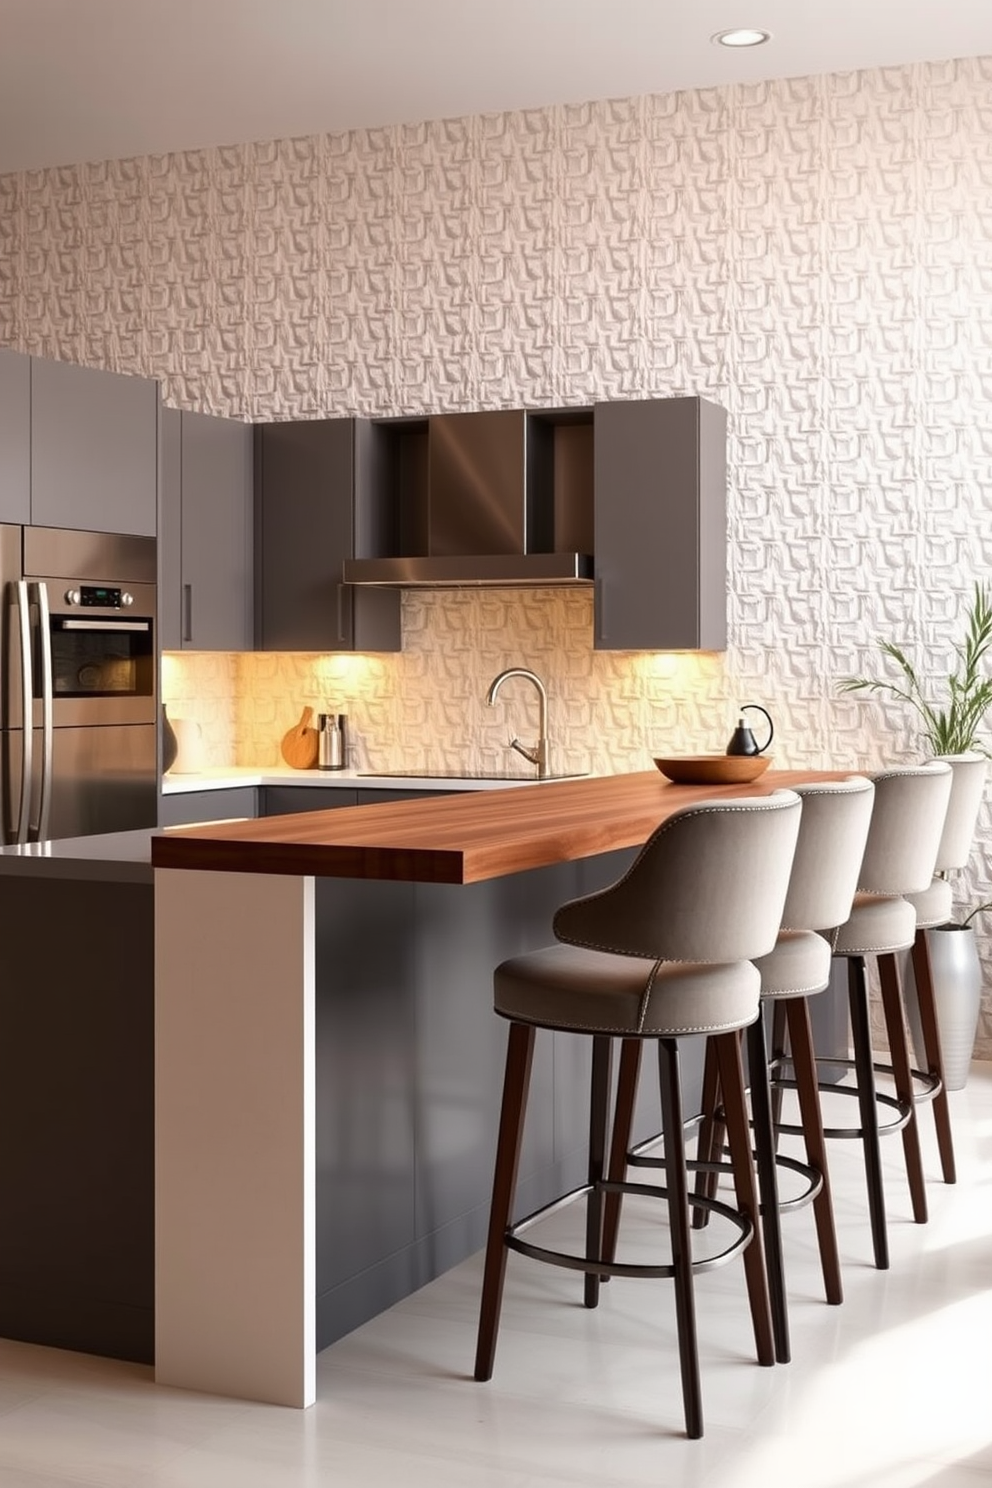
<svg viewBox="0 0 992 1488">
<path fill-rule="evenodd" d="M 916 1128 L 913 1076 L 906 1040 L 906 1022 L 898 982 L 897 952 L 913 945 L 916 911 L 906 897 L 927 888 L 934 875 L 937 848 L 950 796 L 950 765 L 934 760 L 898 769 L 886 769 L 873 777 L 875 805 L 869 841 L 858 873 L 858 893 L 851 915 L 831 936 L 834 957 L 848 961 L 848 1001 L 851 1007 L 851 1042 L 854 1059 L 830 1058 L 831 1065 L 848 1062 L 854 1068 L 854 1085 L 830 1085 L 821 1089 L 857 1097 L 858 1126 L 824 1126 L 827 1137 L 849 1137 L 861 1141 L 869 1189 L 869 1214 L 875 1263 L 885 1271 L 889 1263 L 885 1220 L 885 1190 L 882 1186 L 882 1155 L 879 1137 L 900 1131 L 906 1177 L 913 1205 L 913 1219 L 927 1222 L 927 1190 Z M 877 958 L 882 1012 L 889 1045 L 889 1064 L 875 1062 L 869 1012 L 867 957 Z M 781 1054 L 778 1037 L 773 1056 Z M 879 1091 L 876 1068 L 891 1073 L 895 1094 Z M 895 1112 L 886 1123 L 879 1120 L 879 1107 Z M 799 1131 L 779 1123 L 779 1131 Z"/>
</svg>

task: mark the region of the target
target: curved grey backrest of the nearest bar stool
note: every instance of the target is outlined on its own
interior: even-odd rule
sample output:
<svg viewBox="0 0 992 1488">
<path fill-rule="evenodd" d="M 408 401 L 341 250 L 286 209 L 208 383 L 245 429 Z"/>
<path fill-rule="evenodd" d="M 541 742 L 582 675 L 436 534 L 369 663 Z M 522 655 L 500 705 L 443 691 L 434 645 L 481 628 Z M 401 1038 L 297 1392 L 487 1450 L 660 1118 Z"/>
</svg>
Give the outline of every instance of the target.
<svg viewBox="0 0 992 1488">
<path fill-rule="evenodd" d="M 775 945 L 802 806 L 793 790 L 674 812 L 610 888 L 555 915 L 559 940 L 651 961 L 750 961 Z"/>
</svg>

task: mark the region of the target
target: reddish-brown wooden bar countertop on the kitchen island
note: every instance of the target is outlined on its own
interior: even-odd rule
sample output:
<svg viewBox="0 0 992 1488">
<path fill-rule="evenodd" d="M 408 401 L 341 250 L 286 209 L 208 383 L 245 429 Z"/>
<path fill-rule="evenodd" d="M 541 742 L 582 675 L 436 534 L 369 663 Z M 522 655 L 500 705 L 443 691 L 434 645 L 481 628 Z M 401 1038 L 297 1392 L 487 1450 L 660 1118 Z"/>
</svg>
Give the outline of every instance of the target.
<svg viewBox="0 0 992 1488">
<path fill-rule="evenodd" d="M 152 838 L 162 869 L 471 884 L 638 847 L 668 815 L 703 801 L 764 796 L 833 771 L 769 771 L 748 786 L 672 786 L 656 771 L 204 823 Z"/>
</svg>

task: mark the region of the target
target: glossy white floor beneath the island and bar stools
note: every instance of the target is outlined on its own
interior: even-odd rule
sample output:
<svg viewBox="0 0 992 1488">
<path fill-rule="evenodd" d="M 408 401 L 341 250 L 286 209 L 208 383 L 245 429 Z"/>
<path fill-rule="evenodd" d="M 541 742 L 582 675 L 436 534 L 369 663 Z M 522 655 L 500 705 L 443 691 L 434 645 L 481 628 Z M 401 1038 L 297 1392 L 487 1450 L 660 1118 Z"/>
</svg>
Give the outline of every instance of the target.
<svg viewBox="0 0 992 1488">
<path fill-rule="evenodd" d="M 825 1305 L 812 1216 L 788 1216 L 791 1364 L 754 1363 L 739 1262 L 699 1280 L 702 1442 L 683 1434 L 668 1283 L 613 1281 L 587 1311 L 577 1275 L 510 1257 L 476 1384 L 476 1256 L 326 1350 L 311 1411 L 0 1341 L 0 1488 L 992 1488 L 992 1065 L 952 1112 L 953 1187 L 922 1113 L 925 1226 L 883 1144 L 888 1272 L 857 1144 L 831 1144 L 846 1299 Z M 625 1237 L 631 1254 L 656 1242 L 647 1201 Z"/>
</svg>

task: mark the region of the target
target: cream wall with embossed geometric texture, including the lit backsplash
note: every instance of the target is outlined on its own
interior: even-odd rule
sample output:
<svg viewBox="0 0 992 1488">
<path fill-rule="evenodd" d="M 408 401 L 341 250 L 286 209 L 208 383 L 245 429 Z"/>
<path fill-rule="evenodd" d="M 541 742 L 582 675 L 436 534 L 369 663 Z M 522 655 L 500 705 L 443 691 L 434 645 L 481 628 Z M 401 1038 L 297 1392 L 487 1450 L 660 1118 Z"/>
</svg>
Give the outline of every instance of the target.
<svg viewBox="0 0 992 1488">
<path fill-rule="evenodd" d="M 0 341 L 251 420 L 714 397 L 726 658 L 593 655 L 579 594 L 410 597 L 403 656 L 351 676 L 358 747 L 492 757 L 479 699 L 526 659 L 568 762 L 720 747 L 751 698 L 790 763 L 915 757 L 834 684 L 879 634 L 944 670 L 992 571 L 991 100 L 985 58 L 9 176 Z M 335 680 L 186 665 L 238 754 Z M 964 897 L 991 842 L 986 809 Z"/>
</svg>

